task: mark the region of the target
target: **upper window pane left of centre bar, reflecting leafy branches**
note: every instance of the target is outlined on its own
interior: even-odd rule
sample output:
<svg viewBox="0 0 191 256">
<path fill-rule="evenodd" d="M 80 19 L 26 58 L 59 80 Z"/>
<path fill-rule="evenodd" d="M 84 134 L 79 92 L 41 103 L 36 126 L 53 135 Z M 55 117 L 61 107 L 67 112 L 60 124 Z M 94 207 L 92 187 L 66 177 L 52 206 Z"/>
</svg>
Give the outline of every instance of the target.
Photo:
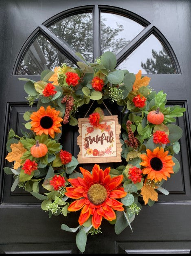
<svg viewBox="0 0 191 256">
<path fill-rule="evenodd" d="M 80 52 L 92 62 L 93 24 L 92 13 L 80 13 L 59 20 L 48 27 L 59 39 L 66 42 L 73 51 Z"/>
</svg>

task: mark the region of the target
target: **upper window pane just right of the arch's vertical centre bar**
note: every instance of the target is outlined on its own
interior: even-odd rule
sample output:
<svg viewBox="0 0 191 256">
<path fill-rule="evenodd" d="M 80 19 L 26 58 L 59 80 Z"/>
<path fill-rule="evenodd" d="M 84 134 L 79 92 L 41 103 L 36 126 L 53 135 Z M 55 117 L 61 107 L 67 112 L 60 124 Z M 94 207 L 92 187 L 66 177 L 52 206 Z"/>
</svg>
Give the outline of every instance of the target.
<svg viewBox="0 0 191 256">
<path fill-rule="evenodd" d="M 101 53 L 112 51 L 117 54 L 144 26 L 121 15 L 101 12 Z"/>
</svg>

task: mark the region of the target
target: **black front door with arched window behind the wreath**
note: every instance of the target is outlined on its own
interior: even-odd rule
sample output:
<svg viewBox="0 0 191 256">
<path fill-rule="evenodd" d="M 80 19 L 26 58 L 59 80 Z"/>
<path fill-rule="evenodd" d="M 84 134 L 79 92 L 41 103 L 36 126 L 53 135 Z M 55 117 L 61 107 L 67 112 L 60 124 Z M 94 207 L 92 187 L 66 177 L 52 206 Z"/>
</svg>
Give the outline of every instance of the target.
<svg viewBox="0 0 191 256">
<path fill-rule="evenodd" d="M 89 62 L 104 51 L 114 52 L 119 68 L 133 73 L 141 69 L 151 77 L 154 90 L 167 93 L 167 104 L 187 108 L 177 119 L 183 130 L 177 156 L 180 171 L 164 185 L 170 194 L 160 194 L 152 207 L 143 205 L 132 223 L 133 233 L 127 227 L 116 235 L 114 227 L 103 221 L 102 234 L 88 236 L 85 253 L 190 253 L 190 1 L 7 0 L 0 4 L 2 253 L 79 253 L 75 234 L 61 230 L 63 222 L 77 227 L 75 213 L 64 221 L 63 216 L 48 218 L 30 193 L 22 188 L 11 192 L 13 179 L 3 171 L 8 131 L 19 133 L 23 113 L 30 109 L 24 82 L 18 78 L 38 81 L 44 69 L 75 64 L 79 51 Z M 74 128 L 66 131 L 63 141 L 75 157 L 76 139 Z"/>
</svg>

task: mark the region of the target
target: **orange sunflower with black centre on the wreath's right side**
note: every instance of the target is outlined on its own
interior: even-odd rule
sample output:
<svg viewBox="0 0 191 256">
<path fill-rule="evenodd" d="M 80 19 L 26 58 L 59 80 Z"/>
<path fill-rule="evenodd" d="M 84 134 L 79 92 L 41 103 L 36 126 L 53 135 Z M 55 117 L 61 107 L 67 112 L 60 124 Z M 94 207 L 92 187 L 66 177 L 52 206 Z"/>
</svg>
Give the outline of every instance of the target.
<svg viewBox="0 0 191 256">
<path fill-rule="evenodd" d="M 172 156 L 168 156 L 169 151 L 164 152 L 161 147 L 155 148 L 153 152 L 149 149 L 146 150 L 147 154 L 141 154 L 143 162 L 140 163 L 143 168 L 143 174 L 147 174 L 147 179 L 154 180 L 155 182 L 162 179 L 167 180 L 170 173 L 173 173 L 173 166 L 175 163 L 172 161 Z"/>
</svg>

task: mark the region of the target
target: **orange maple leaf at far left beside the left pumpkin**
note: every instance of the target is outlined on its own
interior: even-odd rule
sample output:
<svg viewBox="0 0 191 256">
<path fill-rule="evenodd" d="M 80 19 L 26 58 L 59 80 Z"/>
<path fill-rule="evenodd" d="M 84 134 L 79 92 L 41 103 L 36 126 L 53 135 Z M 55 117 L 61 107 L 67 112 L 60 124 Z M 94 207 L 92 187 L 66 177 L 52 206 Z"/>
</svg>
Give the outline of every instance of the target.
<svg viewBox="0 0 191 256">
<path fill-rule="evenodd" d="M 22 157 L 24 152 L 26 152 L 26 149 L 23 147 L 20 141 L 18 142 L 18 144 L 11 144 L 10 148 L 12 149 L 12 151 L 9 152 L 5 159 L 7 159 L 9 162 L 15 161 L 13 169 L 17 170 L 21 166 L 22 159 L 20 158 Z"/>
</svg>

